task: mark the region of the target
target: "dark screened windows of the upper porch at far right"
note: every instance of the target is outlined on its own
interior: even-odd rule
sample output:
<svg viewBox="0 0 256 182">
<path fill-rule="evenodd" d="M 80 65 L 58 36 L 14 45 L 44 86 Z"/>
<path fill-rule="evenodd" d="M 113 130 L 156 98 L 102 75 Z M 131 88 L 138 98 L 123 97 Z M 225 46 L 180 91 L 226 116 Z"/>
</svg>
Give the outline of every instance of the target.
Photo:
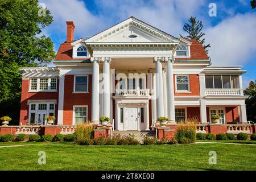
<svg viewBox="0 0 256 182">
<path fill-rule="evenodd" d="M 238 75 L 205 75 L 207 89 L 239 89 Z"/>
</svg>

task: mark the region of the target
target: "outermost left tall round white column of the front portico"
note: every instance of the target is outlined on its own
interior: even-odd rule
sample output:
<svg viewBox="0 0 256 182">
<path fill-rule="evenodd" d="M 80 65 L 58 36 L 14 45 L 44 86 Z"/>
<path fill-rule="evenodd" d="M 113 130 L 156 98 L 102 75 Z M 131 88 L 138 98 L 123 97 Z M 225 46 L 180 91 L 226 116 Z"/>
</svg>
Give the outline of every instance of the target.
<svg viewBox="0 0 256 182">
<path fill-rule="evenodd" d="M 94 125 L 98 125 L 100 122 L 99 120 L 99 97 L 100 97 L 100 84 L 99 84 L 99 76 L 100 76 L 100 57 L 91 57 L 90 59 L 93 62 L 93 75 L 92 75 L 92 118 L 91 122 Z"/>
</svg>

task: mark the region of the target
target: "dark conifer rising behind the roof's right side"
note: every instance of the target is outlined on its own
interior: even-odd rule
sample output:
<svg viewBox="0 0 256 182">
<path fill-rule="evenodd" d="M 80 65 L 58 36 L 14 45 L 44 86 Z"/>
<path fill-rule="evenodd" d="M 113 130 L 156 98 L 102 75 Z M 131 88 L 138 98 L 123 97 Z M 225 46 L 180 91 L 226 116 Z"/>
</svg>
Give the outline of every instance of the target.
<svg viewBox="0 0 256 182">
<path fill-rule="evenodd" d="M 202 43 L 204 46 L 205 51 L 208 53 L 208 49 L 210 44 L 204 45 L 205 39 L 203 36 L 205 35 L 202 31 L 203 29 L 203 22 L 196 20 L 196 17 L 192 17 L 188 19 L 188 23 L 185 23 L 183 26 L 183 30 L 188 33 L 186 38 L 188 39 L 195 39 L 198 42 Z M 181 36 L 181 35 L 180 35 Z M 181 36 L 183 37 L 183 36 Z M 184 37 L 183 37 L 184 38 Z M 203 39 L 202 39 L 203 38 Z"/>
</svg>

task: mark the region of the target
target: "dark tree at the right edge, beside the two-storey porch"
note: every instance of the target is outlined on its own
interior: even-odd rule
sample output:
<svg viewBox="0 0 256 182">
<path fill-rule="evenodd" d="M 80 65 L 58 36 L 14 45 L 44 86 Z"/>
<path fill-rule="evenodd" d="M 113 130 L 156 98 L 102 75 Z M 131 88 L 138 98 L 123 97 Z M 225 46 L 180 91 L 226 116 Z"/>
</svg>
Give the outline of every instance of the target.
<svg viewBox="0 0 256 182">
<path fill-rule="evenodd" d="M 256 122 L 256 80 L 250 81 L 248 88 L 243 90 L 245 96 L 249 96 L 245 100 L 247 120 Z"/>
</svg>

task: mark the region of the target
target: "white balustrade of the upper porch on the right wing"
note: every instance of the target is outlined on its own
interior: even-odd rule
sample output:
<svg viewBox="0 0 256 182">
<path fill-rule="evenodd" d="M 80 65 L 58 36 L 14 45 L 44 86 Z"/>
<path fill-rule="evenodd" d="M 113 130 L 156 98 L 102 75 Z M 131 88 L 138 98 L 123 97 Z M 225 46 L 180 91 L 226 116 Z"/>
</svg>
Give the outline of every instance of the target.
<svg viewBox="0 0 256 182">
<path fill-rule="evenodd" d="M 243 96 L 242 89 L 205 89 L 206 96 Z"/>
</svg>

